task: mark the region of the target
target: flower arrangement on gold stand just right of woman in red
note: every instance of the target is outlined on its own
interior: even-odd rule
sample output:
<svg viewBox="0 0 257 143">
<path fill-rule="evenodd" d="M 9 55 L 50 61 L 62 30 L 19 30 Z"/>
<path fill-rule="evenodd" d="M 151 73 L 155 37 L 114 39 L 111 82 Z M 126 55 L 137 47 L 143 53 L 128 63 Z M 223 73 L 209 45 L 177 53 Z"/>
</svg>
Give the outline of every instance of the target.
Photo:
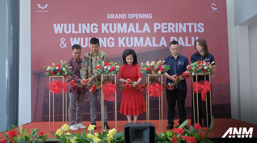
<svg viewBox="0 0 257 143">
<path fill-rule="evenodd" d="M 151 74 L 154 76 L 156 74 L 164 74 L 170 69 L 170 67 L 168 65 L 165 65 L 164 62 L 164 60 L 160 60 L 157 63 L 155 63 L 154 61 L 152 61 L 151 63 L 147 61 L 146 64 L 141 63 L 142 67 L 140 68 L 140 72 L 146 75 Z"/>
</svg>

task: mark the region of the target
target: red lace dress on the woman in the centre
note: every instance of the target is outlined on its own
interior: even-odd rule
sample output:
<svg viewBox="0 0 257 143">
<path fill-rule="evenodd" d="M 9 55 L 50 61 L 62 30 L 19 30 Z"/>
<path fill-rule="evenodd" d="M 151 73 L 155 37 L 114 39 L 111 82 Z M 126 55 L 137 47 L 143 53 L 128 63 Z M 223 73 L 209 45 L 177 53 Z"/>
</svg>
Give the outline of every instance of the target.
<svg viewBox="0 0 257 143">
<path fill-rule="evenodd" d="M 131 79 L 137 82 L 139 78 L 142 78 L 142 73 L 139 72 L 140 66 L 132 64 L 132 67 L 128 67 L 128 64 L 120 67 L 119 79 L 124 78 Z M 126 84 L 126 83 L 123 83 Z M 126 88 L 122 91 L 122 99 L 120 104 L 120 113 L 124 115 L 139 115 L 146 111 L 145 100 L 142 91 L 135 89 L 134 87 Z"/>
</svg>

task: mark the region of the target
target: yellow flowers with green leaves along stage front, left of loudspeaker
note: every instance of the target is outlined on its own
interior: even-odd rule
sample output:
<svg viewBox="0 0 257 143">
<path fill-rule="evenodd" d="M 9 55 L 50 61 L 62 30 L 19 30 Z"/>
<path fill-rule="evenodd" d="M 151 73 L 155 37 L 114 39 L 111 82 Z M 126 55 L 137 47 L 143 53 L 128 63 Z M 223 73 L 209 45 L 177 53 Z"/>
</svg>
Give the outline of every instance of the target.
<svg viewBox="0 0 257 143">
<path fill-rule="evenodd" d="M 64 124 L 56 133 L 49 133 L 56 137 L 56 139 L 48 139 L 48 141 L 59 141 L 61 143 L 121 143 L 124 140 L 123 133 L 117 133 L 115 128 L 107 131 L 104 129 L 103 133 L 94 133 L 95 125 L 88 126 L 88 133 L 85 130 L 81 134 L 70 133 L 69 125 Z"/>
</svg>

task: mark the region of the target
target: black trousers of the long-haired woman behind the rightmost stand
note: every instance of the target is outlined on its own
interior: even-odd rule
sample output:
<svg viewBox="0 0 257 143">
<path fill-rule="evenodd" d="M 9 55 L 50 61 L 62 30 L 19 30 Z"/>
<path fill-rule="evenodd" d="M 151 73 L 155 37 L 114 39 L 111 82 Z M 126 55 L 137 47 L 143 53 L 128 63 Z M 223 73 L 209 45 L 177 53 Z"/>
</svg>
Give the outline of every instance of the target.
<svg viewBox="0 0 257 143">
<path fill-rule="evenodd" d="M 210 104 L 210 92 L 207 92 L 207 100 L 203 101 L 201 98 L 201 93 L 198 93 L 198 96 L 196 96 L 196 93 L 194 94 L 195 98 L 195 122 L 197 123 L 197 99 L 198 97 L 198 113 L 199 113 L 199 124 L 203 127 L 203 121 L 204 118 L 204 127 L 207 127 L 207 118 L 206 118 L 206 101 L 207 101 L 207 111 L 208 111 L 208 126 L 211 125 L 211 104 Z M 203 106 L 202 106 L 203 104 Z M 191 118 L 191 125 L 195 125 L 194 122 L 194 106 L 193 106 L 193 97 L 192 97 L 192 118 Z"/>
</svg>

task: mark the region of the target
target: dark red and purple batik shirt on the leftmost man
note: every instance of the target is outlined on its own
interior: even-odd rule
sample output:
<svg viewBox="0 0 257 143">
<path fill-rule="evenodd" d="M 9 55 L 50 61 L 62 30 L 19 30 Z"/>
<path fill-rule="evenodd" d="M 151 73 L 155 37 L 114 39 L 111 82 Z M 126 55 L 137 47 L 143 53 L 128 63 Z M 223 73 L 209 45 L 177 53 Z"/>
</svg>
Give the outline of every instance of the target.
<svg viewBox="0 0 257 143">
<path fill-rule="evenodd" d="M 80 83 L 81 77 L 80 77 L 80 69 L 81 69 L 81 65 L 83 63 L 83 59 L 79 58 L 79 61 L 76 60 L 74 57 L 72 57 L 70 60 L 68 60 L 67 65 L 68 67 L 71 66 L 71 80 L 76 81 L 77 83 Z M 73 93 L 82 93 L 88 91 L 87 88 L 80 88 L 78 86 L 76 86 L 76 88 L 73 87 L 69 87 L 69 92 L 73 92 Z"/>
</svg>

